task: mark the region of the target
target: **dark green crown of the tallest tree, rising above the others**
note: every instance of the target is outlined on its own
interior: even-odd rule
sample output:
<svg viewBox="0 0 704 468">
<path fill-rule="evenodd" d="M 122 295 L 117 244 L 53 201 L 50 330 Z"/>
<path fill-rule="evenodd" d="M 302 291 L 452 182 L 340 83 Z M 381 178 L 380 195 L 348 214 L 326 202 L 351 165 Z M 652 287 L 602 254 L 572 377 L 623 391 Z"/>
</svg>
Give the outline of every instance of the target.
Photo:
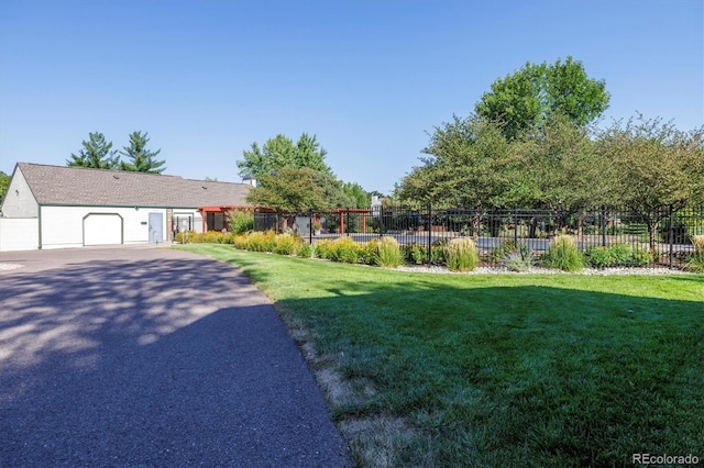
<svg viewBox="0 0 704 468">
<path fill-rule="evenodd" d="M 530 62 L 513 75 L 498 78 L 476 103 L 479 115 L 497 122 L 509 140 L 541 129 L 554 115 L 583 126 L 608 107 L 604 80 L 590 79 L 581 62 L 568 57 L 553 65 Z"/>
</svg>

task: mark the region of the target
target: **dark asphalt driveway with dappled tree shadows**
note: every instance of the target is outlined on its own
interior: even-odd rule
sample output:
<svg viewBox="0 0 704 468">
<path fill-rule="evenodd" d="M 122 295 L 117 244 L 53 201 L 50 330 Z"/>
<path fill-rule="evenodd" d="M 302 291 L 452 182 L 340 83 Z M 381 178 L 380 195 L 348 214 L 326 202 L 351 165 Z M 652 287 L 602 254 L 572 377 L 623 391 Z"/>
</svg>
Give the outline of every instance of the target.
<svg viewBox="0 0 704 468">
<path fill-rule="evenodd" d="M 123 247 L 0 254 L 0 467 L 43 466 L 352 463 L 246 278 Z"/>
</svg>

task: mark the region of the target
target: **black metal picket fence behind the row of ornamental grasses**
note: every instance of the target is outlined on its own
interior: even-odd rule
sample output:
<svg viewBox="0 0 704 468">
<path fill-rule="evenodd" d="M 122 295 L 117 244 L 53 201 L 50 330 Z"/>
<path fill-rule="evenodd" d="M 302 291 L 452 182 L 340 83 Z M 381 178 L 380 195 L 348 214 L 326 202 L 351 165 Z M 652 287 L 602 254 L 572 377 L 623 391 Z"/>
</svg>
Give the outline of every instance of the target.
<svg viewBox="0 0 704 468">
<path fill-rule="evenodd" d="M 628 209 L 585 210 L 469 210 L 426 207 L 382 208 L 377 211 L 338 209 L 327 213 L 254 213 L 255 231 L 293 231 L 309 243 L 341 236 L 355 242 L 394 236 L 402 245 L 421 247 L 426 261 L 433 249 L 454 237 L 475 239 L 486 264 L 506 244 L 539 257 L 559 234 L 573 235 L 578 247 L 627 244 L 648 252 L 651 266 L 680 267 L 693 253 L 691 237 L 704 234 L 704 207 L 638 213 Z"/>
</svg>

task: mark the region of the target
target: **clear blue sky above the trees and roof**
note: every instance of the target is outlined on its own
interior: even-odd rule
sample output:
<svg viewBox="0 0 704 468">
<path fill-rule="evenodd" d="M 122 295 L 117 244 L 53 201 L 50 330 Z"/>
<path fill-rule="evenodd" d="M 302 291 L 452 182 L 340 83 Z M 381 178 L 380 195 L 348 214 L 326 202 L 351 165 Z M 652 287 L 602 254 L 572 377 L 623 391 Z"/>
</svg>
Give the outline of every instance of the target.
<svg viewBox="0 0 704 468">
<path fill-rule="evenodd" d="M 498 77 L 572 56 L 637 112 L 704 124 L 701 0 L 0 0 L 0 170 L 64 165 L 133 131 L 165 174 L 240 181 L 278 133 L 315 134 L 344 181 L 391 192 Z"/>
</svg>

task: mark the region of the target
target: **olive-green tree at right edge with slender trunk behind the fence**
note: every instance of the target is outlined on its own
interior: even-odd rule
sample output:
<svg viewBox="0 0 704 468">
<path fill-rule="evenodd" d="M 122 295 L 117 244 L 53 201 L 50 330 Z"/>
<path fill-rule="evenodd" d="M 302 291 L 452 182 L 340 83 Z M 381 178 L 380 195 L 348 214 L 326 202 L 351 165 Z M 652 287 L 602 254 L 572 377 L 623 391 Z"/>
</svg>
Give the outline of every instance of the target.
<svg viewBox="0 0 704 468">
<path fill-rule="evenodd" d="M 618 175 L 613 199 L 645 220 L 651 252 L 671 211 L 704 201 L 704 126 L 682 132 L 671 122 L 639 115 L 602 132 L 597 148 Z"/>
</svg>

